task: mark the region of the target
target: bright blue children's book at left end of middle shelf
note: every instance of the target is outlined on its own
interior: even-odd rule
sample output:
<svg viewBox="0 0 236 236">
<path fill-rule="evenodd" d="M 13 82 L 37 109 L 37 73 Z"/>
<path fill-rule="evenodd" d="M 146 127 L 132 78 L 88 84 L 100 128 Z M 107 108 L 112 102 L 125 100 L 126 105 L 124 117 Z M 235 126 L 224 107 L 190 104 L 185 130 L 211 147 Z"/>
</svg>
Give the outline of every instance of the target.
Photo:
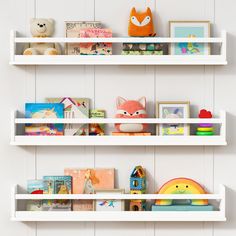
<svg viewBox="0 0 236 236">
<path fill-rule="evenodd" d="M 35 119 L 64 118 L 64 104 L 26 103 L 25 117 Z M 63 124 L 26 124 L 26 135 L 63 135 Z"/>
</svg>

